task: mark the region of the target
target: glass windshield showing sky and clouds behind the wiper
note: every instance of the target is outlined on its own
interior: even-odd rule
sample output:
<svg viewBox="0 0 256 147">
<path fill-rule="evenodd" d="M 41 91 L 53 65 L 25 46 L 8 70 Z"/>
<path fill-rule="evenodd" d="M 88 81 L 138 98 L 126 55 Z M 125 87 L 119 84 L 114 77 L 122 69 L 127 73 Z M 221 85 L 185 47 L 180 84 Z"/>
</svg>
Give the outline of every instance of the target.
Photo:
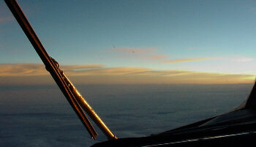
<svg viewBox="0 0 256 147">
<path fill-rule="evenodd" d="M 18 1 L 49 55 L 117 137 L 241 105 L 255 80 L 254 1 Z M 0 144 L 91 146 L 0 1 Z M 106 140 L 99 132 L 97 141 Z"/>
</svg>

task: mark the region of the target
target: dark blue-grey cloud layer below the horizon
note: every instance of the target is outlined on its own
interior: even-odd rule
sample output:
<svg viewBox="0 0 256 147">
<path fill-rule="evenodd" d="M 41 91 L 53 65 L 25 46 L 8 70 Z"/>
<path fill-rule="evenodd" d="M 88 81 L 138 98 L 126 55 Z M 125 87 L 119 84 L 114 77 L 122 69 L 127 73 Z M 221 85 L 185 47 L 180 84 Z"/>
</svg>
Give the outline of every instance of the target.
<svg viewBox="0 0 256 147">
<path fill-rule="evenodd" d="M 232 110 L 246 99 L 252 85 L 85 85 L 78 88 L 117 137 L 141 137 Z M 56 86 L 10 89 L 0 92 L 1 146 L 84 147 L 97 143 L 91 140 Z M 107 140 L 94 127 L 99 133 L 97 141 Z"/>
</svg>

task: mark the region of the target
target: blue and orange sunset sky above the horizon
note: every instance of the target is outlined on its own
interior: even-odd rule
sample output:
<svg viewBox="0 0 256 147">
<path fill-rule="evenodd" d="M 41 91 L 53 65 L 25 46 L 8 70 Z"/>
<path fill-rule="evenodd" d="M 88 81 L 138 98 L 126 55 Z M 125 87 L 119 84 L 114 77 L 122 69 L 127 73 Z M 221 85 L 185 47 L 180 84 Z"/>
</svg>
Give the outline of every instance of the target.
<svg viewBox="0 0 256 147">
<path fill-rule="evenodd" d="M 75 83 L 252 83 L 256 1 L 18 1 Z M 53 83 L 0 1 L 0 84 Z"/>
</svg>

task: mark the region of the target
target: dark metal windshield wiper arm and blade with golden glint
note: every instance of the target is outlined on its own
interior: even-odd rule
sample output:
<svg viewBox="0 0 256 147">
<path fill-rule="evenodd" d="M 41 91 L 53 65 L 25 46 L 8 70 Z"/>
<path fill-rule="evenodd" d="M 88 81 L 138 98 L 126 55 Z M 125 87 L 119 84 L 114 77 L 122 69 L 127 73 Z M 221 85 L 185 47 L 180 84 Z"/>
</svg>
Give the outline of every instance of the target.
<svg viewBox="0 0 256 147">
<path fill-rule="evenodd" d="M 75 113 L 78 115 L 80 121 L 82 121 L 83 125 L 86 127 L 91 137 L 96 139 L 97 132 L 95 131 L 94 127 L 89 121 L 89 118 L 87 118 L 86 114 L 83 112 L 81 106 L 86 111 L 86 113 L 89 113 L 89 116 L 99 126 L 99 128 L 102 129 L 102 132 L 104 132 L 105 135 L 107 135 L 108 139 L 116 139 L 116 136 L 113 135 L 112 132 L 110 132 L 110 129 L 106 127 L 106 125 L 99 118 L 99 116 L 97 116 L 97 113 L 94 112 L 91 106 L 79 94 L 75 86 L 64 75 L 63 71 L 59 69 L 58 62 L 56 62 L 53 58 L 51 58 L 48 55 L 39 38 L 37 37 L 37 34 L 34 32 L 33 28 L 29 24 L 29 21 L 26 19 L 26 16 L 20 9 L 17 1 L 4 1 L 9 7 L 12 14 L 15 16 L 18 23 L 20 24 L 20 27 L 23 29 L 24 33 L 28 37 L 29 41 L 31 42 L 31 45 L 33 45 L 34 49 L 37 51 L 37 54 L 39 55 L 40 59 L 45 64 L 45 68 L 48 70 L 48 72 L 50 72 L 50 75 L 53 77 L 53 79 L 61 89 L 62 93 L 66 97 L 69 104 L 72 106 L 73 110 L 75 110 Z"/>
</svg>

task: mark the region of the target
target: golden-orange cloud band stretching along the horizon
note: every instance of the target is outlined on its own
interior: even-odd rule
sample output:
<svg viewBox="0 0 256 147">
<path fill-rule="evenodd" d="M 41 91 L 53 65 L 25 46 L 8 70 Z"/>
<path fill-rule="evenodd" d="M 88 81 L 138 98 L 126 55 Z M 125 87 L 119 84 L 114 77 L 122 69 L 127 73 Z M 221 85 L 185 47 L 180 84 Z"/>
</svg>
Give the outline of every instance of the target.
<svg viewBox="0 0 256 147">
<path fill-rule="evenodd" d="M 153 70 L 143 67 L 105 67 L 101 64 L 61 66 L 74 83 L 167 84 L 252 83 L 254 75 Z M 49 84 L 50 74 L 42 64 L 0 64 L 0 84 Z"/>
</svg>

